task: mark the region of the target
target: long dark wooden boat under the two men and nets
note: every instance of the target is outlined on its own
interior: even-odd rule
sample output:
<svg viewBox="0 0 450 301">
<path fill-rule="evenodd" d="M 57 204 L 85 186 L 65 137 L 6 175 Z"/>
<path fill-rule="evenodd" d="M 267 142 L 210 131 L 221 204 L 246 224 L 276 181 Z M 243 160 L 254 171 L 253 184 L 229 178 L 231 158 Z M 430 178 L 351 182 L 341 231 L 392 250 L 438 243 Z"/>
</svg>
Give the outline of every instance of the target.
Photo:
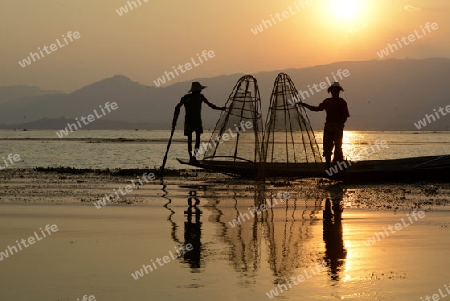
<svg viewBox="0 0 450 301">
<path fill-rule="evenodd" d="M 202 160 L 189 163 L 177 159 L 181 164 L 203 168 L 244 178 L 330 178 L 345 183 L 377 182 L 450 182 L 450 155 L 426 156 L 390 160 L 366 160 L 347 164 L 338 172 L 329 175 L 324 163 L 255 163 L 219 160 Z M 342 166 L 342 165 L 341 165 Z"/>
</svg>

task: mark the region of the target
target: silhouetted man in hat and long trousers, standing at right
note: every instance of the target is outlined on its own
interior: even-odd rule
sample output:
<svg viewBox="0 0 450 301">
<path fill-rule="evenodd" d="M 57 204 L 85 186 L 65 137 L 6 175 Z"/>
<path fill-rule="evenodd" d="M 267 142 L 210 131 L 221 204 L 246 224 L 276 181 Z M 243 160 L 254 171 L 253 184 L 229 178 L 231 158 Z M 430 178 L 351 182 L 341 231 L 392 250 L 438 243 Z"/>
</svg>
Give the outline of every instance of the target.
<svg viewBox="0 0 450 301">
<path fill-rule="evenodd" d="M 339 93 L 344 91 L 339 82 L 331 84 L 327 91 L 328 93 L 331 93 L 332 97 L 325 99 L 317 107 L 306 103 L 301 103 L 301 105 L 311 111 L 325 110 L 327 113 L 325 128 L 323 130 L 323 156 L 325 157 L 327 168 L 330 168 L 333 147 L 333 163 L 344 160 L 344 155 L 342 153 L 342 137 L 344 124 L 347 121 L 347 118 L 350 117 L 350 113 L 348 112 L 347 102 L 339 97 Z"/>
</svg>

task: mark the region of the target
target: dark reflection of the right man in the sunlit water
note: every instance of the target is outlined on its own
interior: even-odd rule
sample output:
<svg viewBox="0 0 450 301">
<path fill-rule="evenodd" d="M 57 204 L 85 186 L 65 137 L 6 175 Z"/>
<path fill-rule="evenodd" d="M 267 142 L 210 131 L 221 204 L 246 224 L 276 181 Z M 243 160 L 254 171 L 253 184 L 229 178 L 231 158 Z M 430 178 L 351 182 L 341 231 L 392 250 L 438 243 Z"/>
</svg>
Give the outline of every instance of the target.
<svg viewBox="0 0 450 301">
<path fill-rule="evenodd" d="M 325 242 L 325 262 L 331 271 L 331 279 L 339 280 L 340 267 L 347 257 L 347 250 L 344 247 L 342 238 L 342 206 L 341 199 L 333 200 L 331 206 L 330 199 L 325 201 L 323 211 L 323 240 Z M 332 212 L 333 209 L 333 212 Z"/>
</svg>

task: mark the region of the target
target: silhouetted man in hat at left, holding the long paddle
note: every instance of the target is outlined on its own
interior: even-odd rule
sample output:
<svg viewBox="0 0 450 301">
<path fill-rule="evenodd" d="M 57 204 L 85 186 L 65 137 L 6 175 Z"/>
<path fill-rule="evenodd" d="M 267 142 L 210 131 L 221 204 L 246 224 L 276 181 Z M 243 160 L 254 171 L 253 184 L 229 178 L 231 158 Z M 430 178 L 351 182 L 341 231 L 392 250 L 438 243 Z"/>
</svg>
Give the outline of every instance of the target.
<svg viewBox="0 0 450 301">
<path fill-rule="evenodd" d="M 186 115 L 184 118 L 184 135 L 188 137 L 189 161 L 196 161 L 196 152 L 200 147 L 200 135 L 203 133 L 202 126 L 202 103 L 206 103 L 210 108 L 215 110 L 225 110 L 226 107 L 218 107 L 210 103 L 201 93 L 206 86 L 202 86 L 199 82 L 192 82 L 190 93 L 184 95 L 181 101 L 175 107 L 175 114 L 172 121 L 172 128 L 177 124 L 180 108 L 184 105 Z M 195 132 L 195 153 L 192 152 L 192 132 Z"/>
</svg>

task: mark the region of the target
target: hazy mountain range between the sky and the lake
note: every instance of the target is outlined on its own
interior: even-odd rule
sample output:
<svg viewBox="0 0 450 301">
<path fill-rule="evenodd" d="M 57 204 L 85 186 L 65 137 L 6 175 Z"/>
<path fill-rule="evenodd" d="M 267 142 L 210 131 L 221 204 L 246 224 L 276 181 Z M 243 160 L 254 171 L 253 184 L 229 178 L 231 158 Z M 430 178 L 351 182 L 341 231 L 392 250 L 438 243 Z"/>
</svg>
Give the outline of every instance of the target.
<svg viewBox="0 0 450 301">
<path fill-rule="evenodd" d="M 328 97 L 326 90 L 312 90 L 313 84 L 333 81 L 333 74 L 347 69 L 348 77 L 337 78 L 346 90 L 344 97 L 351 117 L 348 130 L 417 130 L 414 123 L 433 109 L 450 105 L 448 81 L 450 60 L 372 60 L 337 62 L 302 69 L 253 74 L 258 80 L 266 117 L 273 82 L 279 72 L 287 73 L 297 90 L 308 91 L 303 101 L 317 105 Z M 243 74 L 196 79 L 208 86 L 204 95 L 222 106 L 236 81 Z M 165 87 L 144 86 L 117 75 L 83 87 L 72 93 L 43 91 L 36 87 L 0 87 L 0 128 L 62 129 L 75 118 L 87 116 L 106 102 L 116 102 L 118 109 L 107 113 L 83 129 L 170 129 L 175 105 L 190 88 L 189 82 Z M 305 96 L 306 94 L 304 94 Z M 205 129 L 214 128 L 220 112 L 203 106 Z M 321 129 L 325 113 L 308 113 L 315 129 Z M 450 114 L 449 114 L 450 115 Z M 450 130 L 450 116 L 428 123 L 421 130 Z M 178 119 L 183 128 L 184 110 Z"/>
</svg>

